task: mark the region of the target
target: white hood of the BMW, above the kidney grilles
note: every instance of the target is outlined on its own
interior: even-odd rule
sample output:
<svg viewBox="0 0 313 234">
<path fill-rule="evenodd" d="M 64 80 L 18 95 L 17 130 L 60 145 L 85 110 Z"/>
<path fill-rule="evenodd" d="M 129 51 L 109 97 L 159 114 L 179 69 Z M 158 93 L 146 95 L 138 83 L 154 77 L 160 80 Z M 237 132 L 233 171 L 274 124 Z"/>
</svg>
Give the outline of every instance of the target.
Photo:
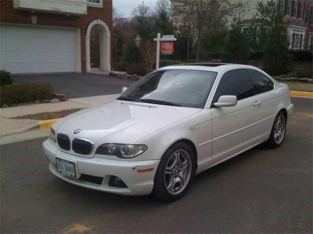
<svg viewBox="0 0 313 234">
<path fill-rule="evenodd" d="M 96 145 L 134 144 L 199 111 L 201 109 L 113 100 L 64 117 L 52 128 L 56 133 L 66 134 L 71 139 L 85 138 Z M 77 129 L 80 131 L 75 132 Z"/>
</svg>

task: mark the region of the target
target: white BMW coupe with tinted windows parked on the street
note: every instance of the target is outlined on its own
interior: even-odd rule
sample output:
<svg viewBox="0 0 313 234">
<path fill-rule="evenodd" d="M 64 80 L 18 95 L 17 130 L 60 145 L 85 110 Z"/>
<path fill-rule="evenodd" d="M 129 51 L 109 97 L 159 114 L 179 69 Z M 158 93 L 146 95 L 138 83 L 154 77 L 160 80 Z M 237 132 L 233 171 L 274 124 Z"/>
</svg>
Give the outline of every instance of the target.
<svg viewBox="0 0 313 234">
<path fill-rule="evenodd" d="M 174 201 L 196 174 L 265 141 L 279 147 L 292 109 L 288 86 L 256 67 L 167 66 L 56 122 L 43 146 L 69 183 Z"/>
</svg>

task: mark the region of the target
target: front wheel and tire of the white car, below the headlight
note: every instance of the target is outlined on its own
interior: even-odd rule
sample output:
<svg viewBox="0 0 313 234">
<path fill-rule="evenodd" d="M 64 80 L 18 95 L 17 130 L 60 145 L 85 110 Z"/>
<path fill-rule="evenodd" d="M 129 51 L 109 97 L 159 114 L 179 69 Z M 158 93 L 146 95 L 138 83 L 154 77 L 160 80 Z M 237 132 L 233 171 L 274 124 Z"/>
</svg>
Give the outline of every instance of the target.
<svg viewBox="0 0 313 234">
<path fill-rule="evenodd" d="M 174 144 L 157 167 L 152 195 L 162 201 L 176 201 L 186 194 L 194 175 L 195 158 L 191 148 L 181 142 Z"/>
</svg>

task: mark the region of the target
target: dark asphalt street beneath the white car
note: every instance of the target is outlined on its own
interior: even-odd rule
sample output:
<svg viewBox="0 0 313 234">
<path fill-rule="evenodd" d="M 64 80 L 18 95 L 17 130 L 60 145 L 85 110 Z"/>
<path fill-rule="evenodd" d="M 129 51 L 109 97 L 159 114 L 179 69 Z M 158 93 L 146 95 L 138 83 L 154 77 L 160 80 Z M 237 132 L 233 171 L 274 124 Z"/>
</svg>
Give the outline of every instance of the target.
<svg viewBox="0 0 313 234">
<path fill-rule="evenodd" d="M 46 137 L 1 145 L 0 232 L 312 233 L 313 99 L 291 99 L 280 148 L 262 144 L 201 173 L 174 203 L 101 193 L 53 176 Z"/>
</svg>

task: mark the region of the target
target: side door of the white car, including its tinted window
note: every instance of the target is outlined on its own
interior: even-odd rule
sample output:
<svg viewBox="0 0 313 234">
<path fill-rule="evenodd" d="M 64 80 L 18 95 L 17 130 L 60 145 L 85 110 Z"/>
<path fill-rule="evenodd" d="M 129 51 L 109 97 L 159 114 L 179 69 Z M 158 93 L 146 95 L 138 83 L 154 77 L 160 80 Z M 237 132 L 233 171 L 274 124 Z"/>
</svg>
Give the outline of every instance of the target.
<svg viewBox="0 0 313 234">
<path fill-rule="evenodd" d="M 223 95 L 235 95 L 237 104 L 232 107 L 215 107 L 214 103 Z M 212 159 L 227 157 L 245 149 L 262 135 L 259 124 L 262 111 L 246 69 L 228 71 L 223 75 L 210 108 Z"/>
</svg>

